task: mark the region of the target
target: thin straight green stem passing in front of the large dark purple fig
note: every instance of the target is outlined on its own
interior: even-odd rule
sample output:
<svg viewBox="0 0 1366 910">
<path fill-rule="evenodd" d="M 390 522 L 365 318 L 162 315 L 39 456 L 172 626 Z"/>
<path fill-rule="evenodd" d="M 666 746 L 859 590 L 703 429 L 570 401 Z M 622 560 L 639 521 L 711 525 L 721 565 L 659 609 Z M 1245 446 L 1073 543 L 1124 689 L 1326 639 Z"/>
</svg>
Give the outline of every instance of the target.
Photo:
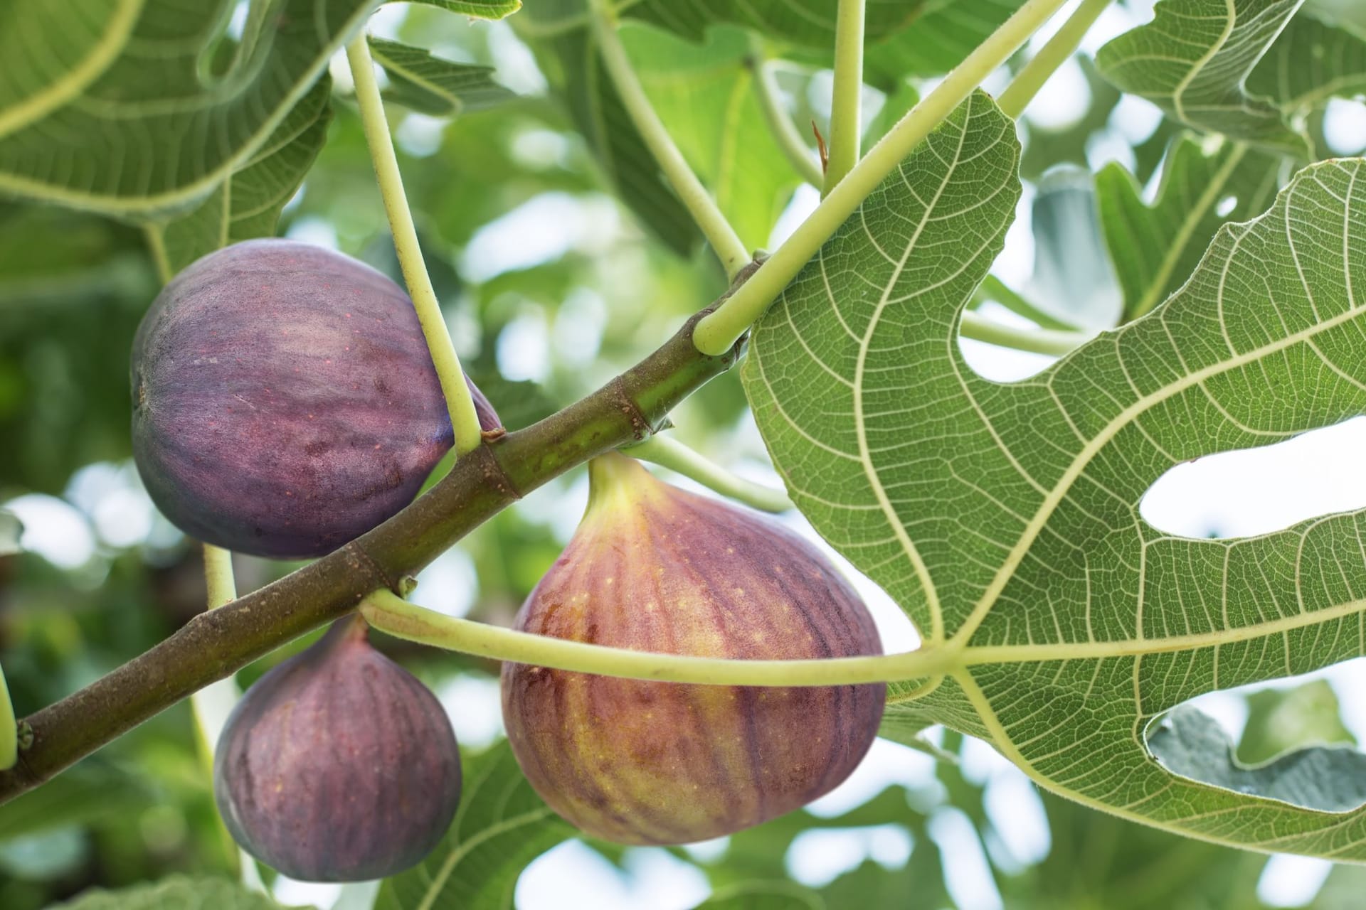
<svg viewBox="0 0 1366 910">
<path fill-rule="evenodd" d="M 365 31 L 346 46 L 347 61 L 351 64 L 351 78 L 355 82 L 355 101 L 361 108 L 361 123 L 365 127 L 365 142 L 370 147 L 370 161 L 374 176 L 384 196 L 384 210 L 389 217 L 389 231 L 393 233 L 393 248 L 399 254 L 403 269 L 403 282 L 408 287 L 413 307 L 417 310 L 422 336 L 426 338 L 432 364 L 436 367 L 445 407 L 451 412 L 451 427 L 455 431 L 455 454 L 463 456 L 479 447 L 479 416 L 474 409 L 474 397 L 464 383 L 460 357 L 451 344 L 451 333 L 441 317 L 441 304 L 432 288 L 426 263 L 422 261 L 422 247 L 418 246 L 418 231 L 413 224 L 408 199 L 403 192 L 403 175 L 393 153 L 393 136 L 384 117 L 384 101 L 380 86 L 374 80 L 374 61 L 370 59 L 370 45 Z"/>
</svg>

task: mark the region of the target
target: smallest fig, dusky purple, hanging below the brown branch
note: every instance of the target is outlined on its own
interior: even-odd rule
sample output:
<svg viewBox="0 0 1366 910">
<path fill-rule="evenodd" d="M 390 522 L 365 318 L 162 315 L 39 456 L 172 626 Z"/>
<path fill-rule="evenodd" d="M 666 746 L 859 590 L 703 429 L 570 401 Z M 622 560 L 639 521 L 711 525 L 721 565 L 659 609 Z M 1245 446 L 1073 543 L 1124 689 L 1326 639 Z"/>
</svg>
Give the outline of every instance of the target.
<svg viewBox="0 0 1366 910">
<path fill-rule="evenodd" d="M 436 847 L 460 802 L 441 703 L 339 619 L 266 673 L 219 738 L 213 791 L 232 838 L 305 881 L 399 873 Z"/>
</svg>

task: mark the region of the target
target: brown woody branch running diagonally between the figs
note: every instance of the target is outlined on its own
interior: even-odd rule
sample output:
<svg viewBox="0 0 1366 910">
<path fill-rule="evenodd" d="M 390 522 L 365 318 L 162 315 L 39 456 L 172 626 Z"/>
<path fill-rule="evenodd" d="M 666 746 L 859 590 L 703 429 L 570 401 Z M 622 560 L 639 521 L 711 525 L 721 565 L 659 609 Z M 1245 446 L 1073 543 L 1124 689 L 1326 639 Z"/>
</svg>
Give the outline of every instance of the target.
<svg viewBox="0 0 1366 910">
<path fill-rule="evenodd" d="M 736 277 L 732 291 L 757 265 Z M 214 679 L 354 610 L 376 588 L 444 553 L 546 480 L 660 428 L 668 412 L 736 360 L 693 345 L 697 314 L 649 357 L 582 401 L 488 438 L 378 528 L 275 584 L 195 617 L 150 651 L 20 723 L 19 763 L 0 772 L 0 802 L 31 790 Z"/>
</svg>

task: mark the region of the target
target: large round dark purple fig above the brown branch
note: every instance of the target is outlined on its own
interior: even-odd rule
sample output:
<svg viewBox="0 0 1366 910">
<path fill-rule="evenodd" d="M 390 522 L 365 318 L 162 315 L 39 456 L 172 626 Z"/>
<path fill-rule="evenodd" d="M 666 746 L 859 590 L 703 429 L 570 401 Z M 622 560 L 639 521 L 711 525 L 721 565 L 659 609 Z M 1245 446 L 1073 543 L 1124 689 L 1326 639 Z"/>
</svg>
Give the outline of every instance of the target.
<svg viewBox="0 0 1366 910">
<path fill-rule="evenodd" d="M 331 553 L 411 502 L 452 443 L 408 296 L 292 240 L 236 243 L 178 274 L 138 327 L 131 372 L 153 502 L 240 553 Z"/>
</svg>

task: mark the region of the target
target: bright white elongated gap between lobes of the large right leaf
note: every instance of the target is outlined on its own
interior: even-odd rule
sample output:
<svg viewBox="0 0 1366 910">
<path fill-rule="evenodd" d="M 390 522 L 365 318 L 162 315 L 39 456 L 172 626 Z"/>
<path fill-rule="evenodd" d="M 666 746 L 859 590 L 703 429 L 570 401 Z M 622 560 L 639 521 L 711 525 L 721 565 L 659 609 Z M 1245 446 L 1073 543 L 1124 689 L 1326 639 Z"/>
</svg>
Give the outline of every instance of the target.
<svg viewBox="0 0 1366 910">
<path fill-rule="evenodd" d="M 1147 524 L 1184 538 L 1242 538 L 1366 508 L 1366 417 L 1258 449 L 1179 464 L 1139 502 Z"/>
</svg>

